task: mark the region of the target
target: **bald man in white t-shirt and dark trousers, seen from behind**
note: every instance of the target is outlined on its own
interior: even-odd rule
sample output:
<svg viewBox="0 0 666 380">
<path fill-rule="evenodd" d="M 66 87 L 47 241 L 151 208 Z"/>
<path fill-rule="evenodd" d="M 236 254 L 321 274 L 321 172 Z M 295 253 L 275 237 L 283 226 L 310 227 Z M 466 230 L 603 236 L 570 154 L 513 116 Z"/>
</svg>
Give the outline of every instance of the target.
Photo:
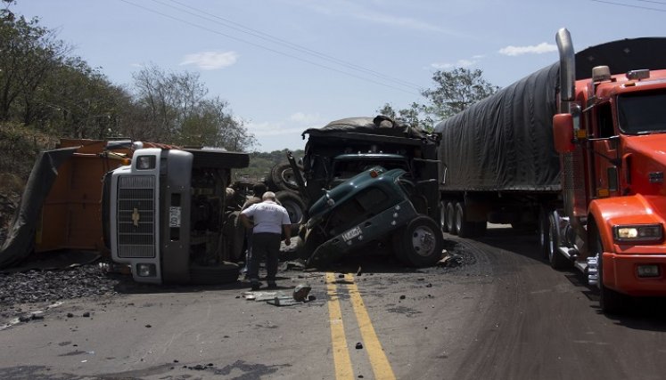
<svg viewBox="0 0 666 380">
<path fill-rule="evenodd" d="M 287 210 L 277 204 L 275 193 L 267 191 L 261 197 L 262 202 L 249 206 L 241 212 L 241 222 L 252 229 L 252 252 L 248 260 L 248 277 L 252 290 L 258 290 L 259 262 L 266 256 L 268 287 L 277 287 L 275 275 L 280 256 L 280 239 L 284 231 L 284 244 L 292 244 L 291 221 Z M 250 220 L 252 218 L 252 220 Z"/>
</svg>

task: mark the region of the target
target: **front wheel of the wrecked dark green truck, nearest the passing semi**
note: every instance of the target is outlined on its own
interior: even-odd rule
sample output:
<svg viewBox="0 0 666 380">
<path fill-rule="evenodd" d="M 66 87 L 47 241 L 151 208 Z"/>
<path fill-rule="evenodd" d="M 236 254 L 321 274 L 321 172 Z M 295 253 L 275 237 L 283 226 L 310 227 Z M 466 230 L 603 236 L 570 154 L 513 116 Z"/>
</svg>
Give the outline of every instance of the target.
<svg viewBox="0 0 666 380">
<path fill-rule="evenodd" d="M 396 256 L 415 267 L 431 266 L 441 259 L 444 237 L 440 226 L 425 215 L 416 216 L 402 230 L 402 248 Z"/>
</svg>

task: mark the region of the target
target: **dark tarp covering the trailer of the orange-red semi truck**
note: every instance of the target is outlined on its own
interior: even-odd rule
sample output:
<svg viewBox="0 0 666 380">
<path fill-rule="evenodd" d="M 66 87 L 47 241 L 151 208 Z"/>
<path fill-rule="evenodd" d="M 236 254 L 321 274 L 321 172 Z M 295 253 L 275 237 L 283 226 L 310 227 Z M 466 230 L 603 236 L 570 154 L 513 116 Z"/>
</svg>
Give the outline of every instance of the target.
<svg viewBox="0 0 666 380">
<path fill-rule="evenodd" d="M 624 39 L 576 53 L 576 78 L 590 77 L 600 65 L 619 74 L 664 63 L 666 38 Z M 552 131 L 559 67 L 540 69 L 435 126 L 442 190 L 561 189 Z"/>
</svg>

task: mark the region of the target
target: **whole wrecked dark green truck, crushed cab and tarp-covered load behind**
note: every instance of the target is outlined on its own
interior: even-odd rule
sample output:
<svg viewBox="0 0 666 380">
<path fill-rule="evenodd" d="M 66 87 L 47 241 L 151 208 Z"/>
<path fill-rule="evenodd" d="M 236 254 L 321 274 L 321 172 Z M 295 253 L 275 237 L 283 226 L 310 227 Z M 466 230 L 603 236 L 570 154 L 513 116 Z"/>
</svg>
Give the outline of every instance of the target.
<svg viewBox="0 0 666 380">
<path fill-rule="evenodd" d="M 437 134 L 378 116 L 336 120 L 302 135 L 308 135 L 302 177 L 295 159 L 288 159 L 308 213 L 300 229 L 308 265 L 322 266 L 371 244 L 389 247 L 393 232 L 405 229 L 418 237 L 393 245 L 403 263 L 440 259 Z"/>
</svg>

